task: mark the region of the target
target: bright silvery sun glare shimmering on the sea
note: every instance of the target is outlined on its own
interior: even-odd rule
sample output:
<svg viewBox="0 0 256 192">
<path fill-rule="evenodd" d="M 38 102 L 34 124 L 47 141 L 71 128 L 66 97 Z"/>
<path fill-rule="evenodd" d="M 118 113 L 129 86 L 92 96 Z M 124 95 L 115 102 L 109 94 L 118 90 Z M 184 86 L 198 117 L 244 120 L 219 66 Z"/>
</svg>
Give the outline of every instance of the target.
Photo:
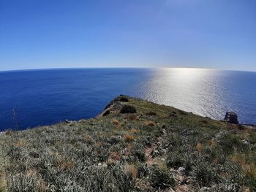
<svg viewBox="0 0 256 192">
<path fill-rule="evenodd" d="M 238 112 L 222 71 L 214 69 L 157 69 L 142 88 L 143 97 L 211 118 L 227 110 Z"/>
</svg>

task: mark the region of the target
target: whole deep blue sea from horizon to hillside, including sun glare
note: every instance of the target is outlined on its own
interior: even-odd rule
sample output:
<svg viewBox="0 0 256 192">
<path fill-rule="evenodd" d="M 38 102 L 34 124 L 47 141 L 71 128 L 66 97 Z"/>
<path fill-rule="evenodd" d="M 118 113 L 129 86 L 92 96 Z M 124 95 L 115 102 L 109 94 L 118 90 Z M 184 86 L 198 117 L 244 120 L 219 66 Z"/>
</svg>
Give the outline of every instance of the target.
<svg viewBox="0 0 256 192">
<path fill-rule="evenodd" d="M 93 118 L 119 94 L 256 124 L 256 72 L 213 69 L 44 69 L 0 72 L 0 131 Z"/>
</svg>

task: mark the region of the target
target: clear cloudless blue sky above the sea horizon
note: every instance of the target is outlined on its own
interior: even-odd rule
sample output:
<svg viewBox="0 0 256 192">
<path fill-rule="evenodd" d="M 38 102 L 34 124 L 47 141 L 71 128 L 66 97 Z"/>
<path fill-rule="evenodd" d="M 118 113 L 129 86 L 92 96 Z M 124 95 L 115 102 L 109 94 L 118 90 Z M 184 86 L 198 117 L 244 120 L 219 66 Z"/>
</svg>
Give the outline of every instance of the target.
<svg viewBox="0 0 256 192">
<path fill-rule="evenodd" d="M 255 0 L 0 0 L 0 70 L 256 71 Z"/>
</svg>

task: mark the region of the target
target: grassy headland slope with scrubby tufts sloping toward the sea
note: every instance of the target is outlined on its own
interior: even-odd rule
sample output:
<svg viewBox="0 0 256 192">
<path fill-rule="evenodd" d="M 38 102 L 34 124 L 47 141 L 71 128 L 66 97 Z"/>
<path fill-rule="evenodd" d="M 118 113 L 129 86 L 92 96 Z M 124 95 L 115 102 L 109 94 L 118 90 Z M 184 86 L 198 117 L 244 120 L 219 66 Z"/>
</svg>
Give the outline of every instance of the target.
<svg viewBox="0 0 256 192">
<path fill-rule="evenodd" d="M 128 96 L 0 145 L 0 191 L 256 191 L 253 128 Z"/>
</svg>

